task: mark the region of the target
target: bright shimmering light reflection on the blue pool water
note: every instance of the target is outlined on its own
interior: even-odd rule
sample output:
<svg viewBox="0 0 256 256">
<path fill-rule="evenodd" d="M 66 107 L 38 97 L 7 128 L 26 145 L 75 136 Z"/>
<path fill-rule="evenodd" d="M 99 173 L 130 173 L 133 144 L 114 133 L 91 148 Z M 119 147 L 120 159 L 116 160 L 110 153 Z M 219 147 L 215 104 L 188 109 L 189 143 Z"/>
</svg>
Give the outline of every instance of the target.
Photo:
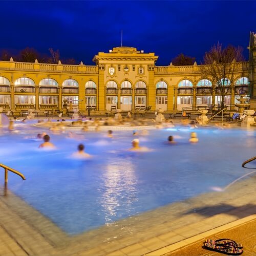
<svg viewBox="0 0 256 256">
<path fill-rule="evenodd" d="M 116 219 L 120 208 L 129 214 L 131 206 L 138 200 L 136 196 L 135 166 L 131 160 L 125 159 L 119 163 L 110 160 L 106 165 L 106 171 L 102 177 L 104 184 L 103 193 L 102 198 L 100 198 L 100 204 L 103 207 L 105 216 L 105 224 L 112 223 L 113 219 Z"/>
</svg>

